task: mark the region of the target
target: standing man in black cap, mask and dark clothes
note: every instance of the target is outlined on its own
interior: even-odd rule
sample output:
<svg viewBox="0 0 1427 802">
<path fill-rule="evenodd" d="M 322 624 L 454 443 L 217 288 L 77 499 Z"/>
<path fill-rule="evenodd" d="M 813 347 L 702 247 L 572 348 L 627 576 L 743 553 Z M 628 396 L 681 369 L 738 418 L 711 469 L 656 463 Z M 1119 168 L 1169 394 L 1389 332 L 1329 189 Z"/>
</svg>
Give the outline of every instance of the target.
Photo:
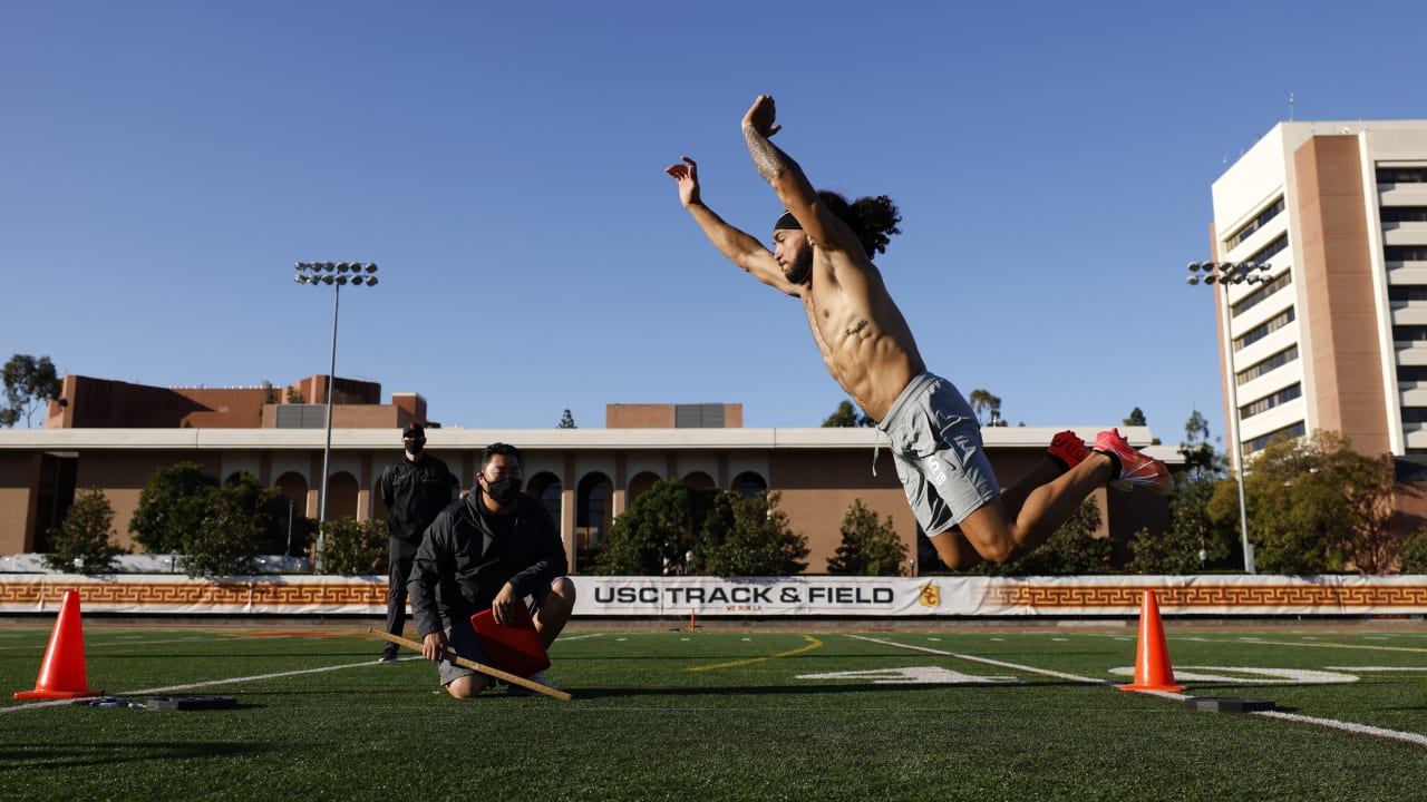
<svg viewBox="0 0 1427 802">
<path fill-rule="evenodd" d="M 425 427 L 408 425 L 401 432 L 401 442 L 407 452 L 381 474 L 381 502 L 387 505 L 387 535 L 391 541 L 387 632 L 398 636 L 407 625 L 407 579 L 421 547 L 421 535 L 461 489 L 447 464 L 425 452 Z M 387 644 L 381 661 L 394 659 L 397 644 Z"/>
</svg>

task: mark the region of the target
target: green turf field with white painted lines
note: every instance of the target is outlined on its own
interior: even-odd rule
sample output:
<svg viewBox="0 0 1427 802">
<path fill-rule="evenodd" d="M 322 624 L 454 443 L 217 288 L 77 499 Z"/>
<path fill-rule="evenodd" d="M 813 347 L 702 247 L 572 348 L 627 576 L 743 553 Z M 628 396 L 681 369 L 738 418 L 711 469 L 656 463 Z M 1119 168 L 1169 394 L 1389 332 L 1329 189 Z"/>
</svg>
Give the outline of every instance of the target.
<svg viewBox="0 0 1427 802">
<path fill-rule="evenodd" d="M 582 629 L 574 694 L 438 692 L 340 626 L 86 621 L 88 685 L 134 702 L 13 699 L 50 626 L 0 628 L 3 799 L 1393 799 L 1427 796 L 1427 628 L 1166 621 L 1184 695 L 1130 694 L 1133 628 Z"/>
</svg>

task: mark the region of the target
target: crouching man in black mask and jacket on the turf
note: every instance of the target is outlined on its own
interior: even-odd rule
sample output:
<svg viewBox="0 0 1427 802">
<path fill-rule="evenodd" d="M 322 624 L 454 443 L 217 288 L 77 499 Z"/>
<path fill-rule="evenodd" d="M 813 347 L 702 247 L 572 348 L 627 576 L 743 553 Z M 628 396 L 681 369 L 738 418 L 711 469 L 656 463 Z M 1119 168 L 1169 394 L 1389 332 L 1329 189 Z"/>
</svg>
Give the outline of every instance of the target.
<svg viewBox="0 0 1427 802">
<path fill-rule="evenodd" d="M 548 649 L 575 608 L 565 544 L 545 505 L 521 492 L 521 479 L 519 451 L 504 442 L 488 445 L 475 487 L 437 515 L 411 568 L 408 595 L 421 654 L 442 661 L 441 685 L 457 699 L 492 684 L 444 659 L 450 648 L 487 664 L 472 615 L 489 608 L 497 624 L 511 624 L 515 605 L 532 602 L 535 631 Z M 554 688 L 541 674 L 529 679 Z M 517 691 L 525 689 L 512 686 Z"/>
</svg>

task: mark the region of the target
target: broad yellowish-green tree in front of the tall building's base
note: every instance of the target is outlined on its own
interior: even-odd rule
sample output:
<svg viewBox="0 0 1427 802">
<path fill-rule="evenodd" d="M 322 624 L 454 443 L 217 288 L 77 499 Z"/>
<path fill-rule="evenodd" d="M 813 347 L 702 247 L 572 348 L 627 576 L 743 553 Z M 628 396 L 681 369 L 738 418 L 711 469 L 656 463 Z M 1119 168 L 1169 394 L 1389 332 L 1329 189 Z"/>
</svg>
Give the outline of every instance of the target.
<svg viewBox="0 0 1427 802">
<path fill-rule="evenodd" d="M 1274 440 L 1254 460 L 1244 488 L 1261 572 L 1373 574 L 1397 552 L 1390 460 L 1353 451 L 1341 434 Z"/>
</svg>

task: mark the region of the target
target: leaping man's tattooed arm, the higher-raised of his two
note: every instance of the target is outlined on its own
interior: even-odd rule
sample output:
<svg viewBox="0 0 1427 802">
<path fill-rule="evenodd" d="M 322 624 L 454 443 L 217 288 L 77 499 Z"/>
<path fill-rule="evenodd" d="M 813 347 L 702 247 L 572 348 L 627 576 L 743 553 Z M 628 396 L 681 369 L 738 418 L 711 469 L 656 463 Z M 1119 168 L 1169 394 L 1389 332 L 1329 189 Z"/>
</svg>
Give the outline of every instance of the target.
<svg viewBox="0 0 1427 802">
<path fill-rule="evenodd" d="M 852 230 L 819 201 L 818 190 L 803 174 L 802 167 L 769 141 L 782 130 L 775 118 L 776 108 L 769 94 L 758 96 L 743 114 L 743 140 L 748 141 L 748 154 L 753 157 L 758 174 L 773 187 L 778 200 L 798 218 L 798 224 L 813 243 L 829 251 L 860 253 L 860 244 Z"/>
</svg>

